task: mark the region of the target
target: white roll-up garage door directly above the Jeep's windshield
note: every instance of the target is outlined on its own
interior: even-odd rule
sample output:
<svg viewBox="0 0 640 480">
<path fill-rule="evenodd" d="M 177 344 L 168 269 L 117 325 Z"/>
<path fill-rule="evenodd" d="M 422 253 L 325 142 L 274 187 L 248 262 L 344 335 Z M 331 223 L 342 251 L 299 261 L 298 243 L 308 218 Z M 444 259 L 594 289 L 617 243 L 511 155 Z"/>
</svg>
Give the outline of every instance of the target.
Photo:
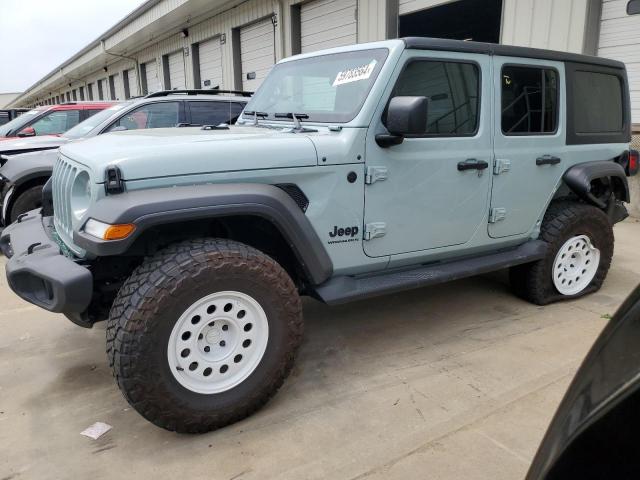
<svg viewBox="0 0 640 480">
<path fill-rule="evenodd" d="M 300 7 L 302 53 L 357 43 L 356 0 L 313 0 Z"/>
</svg>

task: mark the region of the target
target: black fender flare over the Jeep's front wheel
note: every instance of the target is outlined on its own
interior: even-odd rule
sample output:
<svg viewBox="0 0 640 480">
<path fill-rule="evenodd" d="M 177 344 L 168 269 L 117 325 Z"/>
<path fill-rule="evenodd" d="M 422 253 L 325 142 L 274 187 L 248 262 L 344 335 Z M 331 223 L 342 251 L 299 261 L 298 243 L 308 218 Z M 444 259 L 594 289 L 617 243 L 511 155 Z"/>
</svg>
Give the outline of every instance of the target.
<svg viewBox="0 0 640 480">
<path fill-rule="evenodd" d="M 133 223 L 134 233 L 123 240 L 105 241 L 76 230 L 73 240 L 96 256 L 120 255 L 151 227 L 234 215 L 253 215 L 271 222 L 312 283 L 320 284 L 332 275 L 331 259 L 307 216 L 287 193 L 268 184 L 191 185 L 108 195 L 90 208 L 85 219 Z"/>
</svg>

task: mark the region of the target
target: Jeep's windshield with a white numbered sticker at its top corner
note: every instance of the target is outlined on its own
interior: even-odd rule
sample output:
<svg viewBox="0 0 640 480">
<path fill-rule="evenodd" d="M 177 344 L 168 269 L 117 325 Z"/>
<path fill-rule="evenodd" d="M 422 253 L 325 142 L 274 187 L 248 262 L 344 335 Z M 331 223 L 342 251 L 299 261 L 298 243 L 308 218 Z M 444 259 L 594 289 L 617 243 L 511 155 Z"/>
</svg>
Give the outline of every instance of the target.
<svg viewBox="0 0 640 480">
<path fill-rule="evenodd" d="M 280 63 L 245 112 L 258 112 L 269 120 L 276 120 L 276 114 L 296 113 L 308 115 L 302 118 L 311 122 L 349 122 L 362 108 L 388 53 L 379 48 Z"/>
</svg>

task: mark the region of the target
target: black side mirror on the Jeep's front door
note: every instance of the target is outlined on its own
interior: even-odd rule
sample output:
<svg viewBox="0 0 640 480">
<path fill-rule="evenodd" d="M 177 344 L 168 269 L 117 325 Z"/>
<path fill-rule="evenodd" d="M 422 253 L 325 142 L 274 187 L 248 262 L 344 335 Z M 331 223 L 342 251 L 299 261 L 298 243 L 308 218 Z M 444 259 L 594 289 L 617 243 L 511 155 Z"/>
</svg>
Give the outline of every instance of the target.
<svg viewBox="0 0 640 480">
<path fill-rule="evenodd" d="M 382 148 L 399 145 L 406 135 L 427 132 L 427 97 L 393 97 L 387 108 L 387 130 L 391 135 L 376 135 L 376 143 Z"/>
</svg>

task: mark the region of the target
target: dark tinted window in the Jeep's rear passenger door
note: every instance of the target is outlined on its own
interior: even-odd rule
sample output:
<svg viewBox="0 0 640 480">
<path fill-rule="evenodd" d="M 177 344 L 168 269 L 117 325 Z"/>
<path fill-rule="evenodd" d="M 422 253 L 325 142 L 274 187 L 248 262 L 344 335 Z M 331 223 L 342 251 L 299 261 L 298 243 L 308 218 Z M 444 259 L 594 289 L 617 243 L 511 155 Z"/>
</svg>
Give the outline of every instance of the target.
<svg viewBox="0 0 640 480">
<path fill-rule="evenodd" d="M 501 79 L 505 135 L 550 135 L 558 128 L 558 72 L 505 65 Z"/>
</svg>

